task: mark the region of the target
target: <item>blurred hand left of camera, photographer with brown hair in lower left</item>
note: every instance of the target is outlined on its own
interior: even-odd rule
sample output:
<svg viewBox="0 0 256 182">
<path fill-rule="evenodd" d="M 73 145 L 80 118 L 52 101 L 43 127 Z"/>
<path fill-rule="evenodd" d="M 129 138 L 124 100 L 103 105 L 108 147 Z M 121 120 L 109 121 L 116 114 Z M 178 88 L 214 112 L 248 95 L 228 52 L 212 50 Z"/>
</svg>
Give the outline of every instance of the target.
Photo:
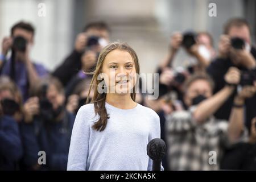
<svg viewBox="0 0 256 182">
<path fill-rule="evenodd" d="M 38 97 L 28 98 L 23 107 L 24 121 L 32 122 L 34 115 L 39 114 L 39 99 Z"/>
</svg>

